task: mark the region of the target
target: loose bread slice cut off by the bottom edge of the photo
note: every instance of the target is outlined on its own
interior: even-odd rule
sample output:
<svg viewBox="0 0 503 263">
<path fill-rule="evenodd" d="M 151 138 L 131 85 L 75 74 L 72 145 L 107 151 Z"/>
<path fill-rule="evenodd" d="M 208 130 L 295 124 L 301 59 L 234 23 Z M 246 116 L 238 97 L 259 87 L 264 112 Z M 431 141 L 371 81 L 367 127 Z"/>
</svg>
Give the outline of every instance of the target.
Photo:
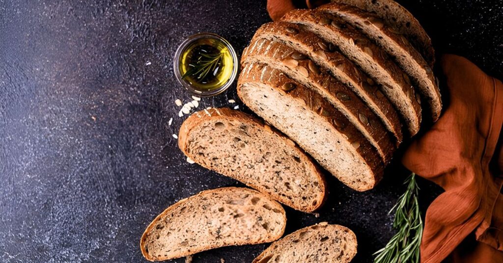
<svg viewBox="0 0 503 263">
<path fill-rule="evenodd" d="M 356 255 L 357 246 L 349 228 L 322 222 L 272 243 L 253 263 L 347 263 Z"/>
</svg>

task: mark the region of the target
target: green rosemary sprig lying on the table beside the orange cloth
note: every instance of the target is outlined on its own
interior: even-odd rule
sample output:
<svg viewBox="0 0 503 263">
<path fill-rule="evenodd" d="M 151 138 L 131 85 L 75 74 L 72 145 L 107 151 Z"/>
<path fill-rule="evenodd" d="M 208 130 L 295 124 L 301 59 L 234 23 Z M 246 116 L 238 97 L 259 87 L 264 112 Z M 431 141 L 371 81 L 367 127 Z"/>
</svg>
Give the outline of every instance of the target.
<svg viewBox="0 0 503 263">
<path fill-rule="evenodd" d="M 420 261 L 420 245 L 423 236 L 423 220 L 417 202 L 419 187 L 412 173 L 405 180 L 407 190 L 400 196 L 396 205 L 389 211 L 395 211 L 393 227 L 398 232 L 385 247 L 374 255 L 374 263 L 404 263 Z"/>
</svg>

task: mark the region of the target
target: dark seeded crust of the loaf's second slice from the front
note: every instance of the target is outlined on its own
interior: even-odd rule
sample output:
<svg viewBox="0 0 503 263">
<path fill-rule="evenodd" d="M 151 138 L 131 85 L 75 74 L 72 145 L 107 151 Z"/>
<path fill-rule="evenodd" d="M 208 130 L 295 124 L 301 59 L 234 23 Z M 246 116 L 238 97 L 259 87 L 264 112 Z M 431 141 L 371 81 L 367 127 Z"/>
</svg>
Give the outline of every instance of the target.
<svg viewBox="0 0 503 263">
<path fill-rule="evenodd" d="M 339 82 L 337 79 L 333 78 L 328 72 L 325 71 L 324 68 L 318 67 L 319 73 L 316 73 L 312 70 L 309 70 L 309 63 L 313 63 L 308 58 L 295 60 L 291 56 L 291 54 L 295 53 L 295 49 L 286 46 L 285 44 L 277 41 L 272 41 L 268 39 L 258 39 L 256 40 L 259 43 L 251 42 L 250 48 L 248 49 L 248 55 L 246 56 L 245 63 L 250 62 L 266 62 L 268 59 L 272 61 L 277 61 L 277 63 L 282 63 L 284 61 L 290 60 L 298 63 L 298 66 L 295 68 L 290 68 L 292 71 L 296 71 L 300 67 L 303 67 L 308 72 L 308 76 L 304 76 L 306 82 L 312 83 L 313 86 L 317 86 L 317 89 L 312 89 L 313 92 L 320 95 L 321 92 L 319 90 L 325 90 L 328 93 L 330 98 L 326 98 L 327 101 L 331 101 L 332 107 L 336 106 L 334 101 L 339 102 L 344 105 L 345 110 L 340 110 L 341 113 L 345 116 L 352 116 L 354 118 L 351 122 L 357 129 L 364 129 L 369 135 L 363 134 L 367 140 L 373 140 L 374 145 L 378 148 L 378 151 L 381 154 L 384 162 L 387 163 L 396 149 L 396 140 L 395 138 L 387 131 L 384 125 L 381 122 L 381 119 L 372 112 L 367 104 L 365 104 L 358 96 L 356 96 L 353 91 L 351 91 L 346 85 Z M 263 44 L 264 43 L 264 44 Z M 305 53 L 304 53 L 305 54 Z M 269 64 L 269 66 L 276 68 L 274 65 Z M 284 62 L 283 65 L 288 63 Z M 281 68 L 277 68 L 281 69 Z M 291 75 L 289 71 L 283 71 L 290 78 L 295 79 L 296 81 L 302 81 L 300 78 L 296 78 Z M 319 90 L 318 90 L 319 89 Z M 345 95 L 345 99 L 340 99 L 341 95 Z M 346 111 L 344 113 L 343 111 Z M 362 121 L 362 118 L 363 119 Z M 351 120 L 351 119 L 348 119 Z M 365 122 L 366 121 L 366 122 Z"/>
</svg>

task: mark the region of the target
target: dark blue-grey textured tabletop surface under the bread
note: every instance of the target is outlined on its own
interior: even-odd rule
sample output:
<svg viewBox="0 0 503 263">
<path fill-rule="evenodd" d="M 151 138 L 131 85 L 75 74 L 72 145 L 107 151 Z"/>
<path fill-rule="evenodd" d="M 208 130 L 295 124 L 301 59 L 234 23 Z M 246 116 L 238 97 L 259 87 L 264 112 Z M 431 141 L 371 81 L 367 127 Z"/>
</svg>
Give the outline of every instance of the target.
<svg viewBox="0 0 503 263">
<path fill-rule="evenodd" d="M 500 1 L 411 2 L 405 6 L 438 53 L 466 56 L 501 78 Z M 187 163 L 177 148 L 172 134 L 183 119 L 174 101 L 190 96 L 174 78 L 172 57 L 185 37 L 203 31 L 241 53 L 270 20 L 265 6 L 0 0 L 0 261 L 144 262 L 139 238 L 158 213 L 202 190 L 239 185 Z M 228 99 L 237 100 L 235 85 L 200 108 Z M 354 262 L 370 262 L 393 234 L 387 211 L 407 174 L 391 166 L 366 193 L 329 178 L 319 218 L 287 209 L 287 233 L 343 224 L 359 239 Z M 424 211 L 440 190 L 420 183 Z M 215 249 L 194 261 L 250 262 L 266 246 Z"/>
</svg>

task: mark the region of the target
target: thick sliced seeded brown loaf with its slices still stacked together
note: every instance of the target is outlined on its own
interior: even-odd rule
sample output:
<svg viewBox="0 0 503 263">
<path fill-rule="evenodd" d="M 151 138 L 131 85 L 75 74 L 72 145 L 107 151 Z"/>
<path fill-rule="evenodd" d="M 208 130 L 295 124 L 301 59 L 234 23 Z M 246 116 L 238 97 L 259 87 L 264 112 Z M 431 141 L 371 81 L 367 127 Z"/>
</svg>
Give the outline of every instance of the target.
<svg viewBox="0 0 503 263">
<path fill-rule="evenodd" d="M 333 176 L 366 191 L 423 115 L 440 116 L 433 48 L 393 1 L 334 2 L 263 25 L 241 57 L 237 92 Z"/>
</svg>

